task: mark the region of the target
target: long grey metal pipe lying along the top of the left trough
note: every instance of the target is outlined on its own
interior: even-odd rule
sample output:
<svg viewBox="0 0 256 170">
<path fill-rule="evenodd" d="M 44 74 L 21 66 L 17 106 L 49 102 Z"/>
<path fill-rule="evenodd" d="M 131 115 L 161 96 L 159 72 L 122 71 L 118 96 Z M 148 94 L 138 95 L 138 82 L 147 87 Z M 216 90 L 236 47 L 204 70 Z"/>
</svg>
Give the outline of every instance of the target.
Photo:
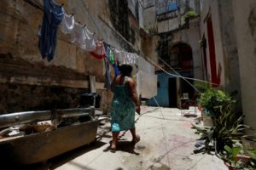
<svg viewBox="0 0 256 170">
<path fill-rule="evenodd" d="M 10 127 L 29 122 L 41 122 L 64 117 L 86 116 L 95 117 L 94 107 L 63 109 L 55 111 L 24 111 L 0 115 L 0 127 Z"/>
</svg>

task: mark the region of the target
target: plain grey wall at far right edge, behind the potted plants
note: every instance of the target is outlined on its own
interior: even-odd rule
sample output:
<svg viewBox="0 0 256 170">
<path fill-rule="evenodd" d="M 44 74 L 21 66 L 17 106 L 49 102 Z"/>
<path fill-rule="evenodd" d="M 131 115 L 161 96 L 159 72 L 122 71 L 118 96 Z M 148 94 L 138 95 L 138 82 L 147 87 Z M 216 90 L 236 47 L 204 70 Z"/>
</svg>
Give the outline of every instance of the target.
<svg viewBox="0 0 256 170">
<path fill-rule="evenodd" d="M 256 2 L 233 1 L 245 123 L 256 129 Z"/>
</svg>

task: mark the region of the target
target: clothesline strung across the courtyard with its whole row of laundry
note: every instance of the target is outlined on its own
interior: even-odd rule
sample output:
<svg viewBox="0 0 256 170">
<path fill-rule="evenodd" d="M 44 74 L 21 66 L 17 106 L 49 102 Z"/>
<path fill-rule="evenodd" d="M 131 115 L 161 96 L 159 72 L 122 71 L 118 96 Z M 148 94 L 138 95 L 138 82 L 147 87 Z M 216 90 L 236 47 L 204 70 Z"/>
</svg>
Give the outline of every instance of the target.
<svg viewBox="0 0 256 170">
<path fill-rule="evenodd" d="M 83 1 L 81 2 L 84 4 Z M 96 26 L 96 23 L 92 19 L 90 12 L 88 11 L 88 8 L 85 6 L 85 4 L 84 4 L 84 8 L 86 8 L 87 13 L 90 16 L 90 19 L 93 21 L 93 23 Z M 48 24 L 49 26 L 44 26 L 45 24 L 46 25 Z M 105 67 L 109 63 L 111 63 L 111 65 L 113 65 L 113 69 L 116 75 L 119 74 L 119 71 L 117 68 L 118 64 L 120 65 L 129 64 L 129 65 L 141 66 L 144 71 L 146 71 L 151 75 L 155 75 L 155 74 L 154 74 L 154 71 L 152 71 L 153 69 L 151 69 L 150 67 L 153 67 L 153 65 L 159 67 L 159 65 L 155 65 L 155 63 L 152 63 L 152 60 L 149 60 L 150 62 L 148 62 L 147 61 L 148 58 L 146 58 L 147 60 L 144 59 L 141 54 L 138 55 L 136 53 L 129 53 L 123 49 L 117 49 L 109 45 L 108 42 L 103 41 L 103 37 L 102 37 L 102 40 L 98 40 L 96 38 L 95 32 L 90 31 L 85 24 L 81 24 L 80 22 L 76 22 L 74 20 L 73 14 L 66 14 L 64 8 L 60 5 L 55 4 L 53 0 L 44 0 L 43 24 L 38 34 L 39 37 L 44 41 L 39 41 L 41 42 L 39 43 L 39 48 L 41 50 L 42 57 L 43 58 L 47 57 L 49 61 L 53 59 L 53 56 L 54 56 L 56 29 L 58 27 L 61 29 L 61 31 L 64 34 L 68 34 L 70 36 L 70 42 L 77 43 L 80 48 L 84 49 L 85 51 L 89 51 L 90 54 L 94 56 L 96 59 L 104 59 Z M 99 30 L 98 26 L 96 26 L 96 28 Z M 45 36 L 46 33 L 50 34 L 51 37 L 49 37 L 49 35 Z M 99 30 L 99 33 L 102 35 L 100 30 Z M 47 38 L 49 39 L 49 42 L 45 41 L 45 40 L 48 40 Z M 47 42 L 47 43 L 45 43 L 46 44 L 45 45 L 42 42 L 44 43 Z M 43 44 L 43 47 L 40 47 L 40 45 L 42 44 Z M 46 50 L 48 48 L 49 48 L 49 51 Z M 142 64 L 139 65 L 139 63 L 142 63 Z M 148 65 L 151 65 L 151 66 L 148 66 Z M 106 70 L 106 75 L 107 75 L 107 72 L 108 71 Z M 171 75 L 171 73 L 169 72 L 168 74 Z M 172 75 L 172 76 L 181 77 L 184 80 L 191 79 L 188 77 L 182 77 L 181 75 Z M 109 75 L 107 75 L 106 78 L 107 77 L 109 78 Z M 193 80 L 198 81 L 198 79 L 193 79 Z M 189 83 L 189 85 L 195 88 L 191 83 Z"/>
</svg>

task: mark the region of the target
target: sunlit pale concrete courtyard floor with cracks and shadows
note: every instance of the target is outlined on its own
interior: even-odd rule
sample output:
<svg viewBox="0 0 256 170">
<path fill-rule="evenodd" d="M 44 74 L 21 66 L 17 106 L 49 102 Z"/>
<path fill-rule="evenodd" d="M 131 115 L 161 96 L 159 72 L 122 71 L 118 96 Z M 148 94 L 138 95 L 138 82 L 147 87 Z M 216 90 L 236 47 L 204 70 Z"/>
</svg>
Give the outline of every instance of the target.
<svg viewBox="0 0 256 170">
<path fill-rule="evenodd" d="M 192 110 L 193 111 L 193 110 Z M 197 113 L 200 113 L 197 111 Z M 143 106 L 136 116 L 141 141 L 132 146 L 131 133 L 120 133 L 118 149 L 109 150 L 112 139 L 109 122 L 98 128 L 96 143 L 84 146 L 35 169 L 57 170 L 225 170 L 217 156 L 193 154 L 199 138 L 191 123 L 195 117 L 183 117 L 181 111 Z"/>
</svg>

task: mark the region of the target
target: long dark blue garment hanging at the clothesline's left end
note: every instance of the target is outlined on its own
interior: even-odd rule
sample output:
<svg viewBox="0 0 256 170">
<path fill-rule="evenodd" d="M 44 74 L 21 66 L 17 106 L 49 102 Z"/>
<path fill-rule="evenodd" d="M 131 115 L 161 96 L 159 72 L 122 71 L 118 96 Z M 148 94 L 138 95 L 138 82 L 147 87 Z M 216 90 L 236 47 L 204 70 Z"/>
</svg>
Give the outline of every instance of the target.
<svg viewBox="0 0 256 170">
<path fill-rule="evenodd" d="M 39 32 L 38 48 L 42 58 L 48 61 L 55 55 L 57 41 L 57 28 L 64 16 L 61 5 L 55 4 L 53 0 L 44 0 L 44 16 Z"/>
</svg>

